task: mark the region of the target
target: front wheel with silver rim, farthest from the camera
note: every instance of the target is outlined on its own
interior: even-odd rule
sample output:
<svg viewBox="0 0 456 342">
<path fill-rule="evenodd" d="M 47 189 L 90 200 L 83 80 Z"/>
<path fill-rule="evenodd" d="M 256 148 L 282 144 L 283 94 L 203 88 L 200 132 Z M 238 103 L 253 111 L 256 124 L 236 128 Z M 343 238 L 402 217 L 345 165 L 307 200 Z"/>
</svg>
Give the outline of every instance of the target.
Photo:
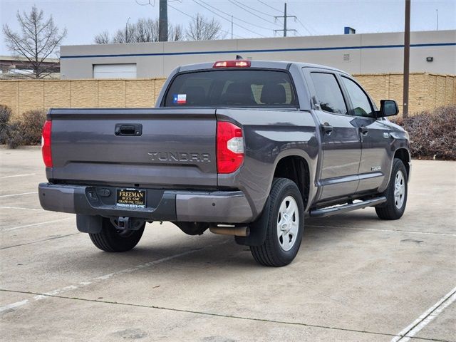
<svg viewBox="0 0 456 342">
<path fill-rule="evenodd" d="M 375 212 L 380 219 L 400 219 L 407 204 L 408 178 L 407 170 L 402 160 L 393 160 L 390 182 L 383 196 L 386 202 L 375 207 Z"/>
</svg>

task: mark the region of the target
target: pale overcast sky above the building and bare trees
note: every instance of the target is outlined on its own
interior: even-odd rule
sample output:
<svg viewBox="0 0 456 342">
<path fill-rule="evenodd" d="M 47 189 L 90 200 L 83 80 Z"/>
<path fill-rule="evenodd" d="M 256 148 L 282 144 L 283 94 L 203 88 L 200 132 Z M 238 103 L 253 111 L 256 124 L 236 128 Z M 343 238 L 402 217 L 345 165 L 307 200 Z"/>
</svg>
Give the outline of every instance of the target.
<svg viewBox="0 0 456 342">
<path fill-rule="evenodd" d="M 137 1 L 148 2 L 148 0 Z M 46 16 L 53 16 L 58 27 L 68 29 L 68 36 L 63 41 L 63 45 L 90 44 L 93 43 L 95 34 L 101 31 L 114 32 L 118 28 L 125 28 L 129 17 L 130 22 L 140 18 L 157 18 L 158 1 L 150 0 L 154 6 L 140 6 L 135 0 L 0 0 L 0 23 L 9 24 L 11 28 L 17 29 L 16 12 L 30 11 L 31 6 L 36 4 L 39 9 L 43 9 Z M 356 28 L 357 33 L 403 31 L 404 2 L 404 0 L 287 1 L 289 15 L 297 16 L 299 19 L 298 21 L 289 19 L 288 26 L 295 28 L 298 36 L 342 34 L 344 26 Z M 239 3 L 248 7 L 242 7 Z M 283 25 L 282 21 L 274 23 L 274 16 L 283 15 L 284 1 L 279 0 L 169 0 L 169 4 L 168 18 L 171 23 L 186 26 L 191 20 L 190 16 L 195 16 L 197 13 L 215 17 L 222 24 L 224 31 L 227 31 L 225 38 L 231 36 L 229 15 L 234 16 L 235 38 L 271 37 L 274 36 L 274 28 L 281 28 Z M 216 16 L 208 9 L 229 20 Z M 436 9 L 438 9 L 439 29 L 455 29 L 456 0 L 412 0 L 412 31 L 435 30 Z M 294 33 L 290 32 L 289 35 L 293 36 Z M 8 54 L 4 35 L 1 32 L 0 55 Z"/>
</svg>

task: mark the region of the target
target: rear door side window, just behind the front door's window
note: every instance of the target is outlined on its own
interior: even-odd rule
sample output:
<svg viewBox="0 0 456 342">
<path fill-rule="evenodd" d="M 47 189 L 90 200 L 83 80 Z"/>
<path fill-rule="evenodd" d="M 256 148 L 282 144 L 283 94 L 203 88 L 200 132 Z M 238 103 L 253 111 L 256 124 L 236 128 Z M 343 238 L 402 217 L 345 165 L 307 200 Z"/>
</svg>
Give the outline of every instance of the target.
<svg viewBox="0 0 456 342">
<path fill-rule="evenodd" d="M 329 113 L 347 114 L 347 106 L 343 100 L 342 90 L 333 73 L 311 73 L 318 105 L 321 110 Z"/>
</svg>

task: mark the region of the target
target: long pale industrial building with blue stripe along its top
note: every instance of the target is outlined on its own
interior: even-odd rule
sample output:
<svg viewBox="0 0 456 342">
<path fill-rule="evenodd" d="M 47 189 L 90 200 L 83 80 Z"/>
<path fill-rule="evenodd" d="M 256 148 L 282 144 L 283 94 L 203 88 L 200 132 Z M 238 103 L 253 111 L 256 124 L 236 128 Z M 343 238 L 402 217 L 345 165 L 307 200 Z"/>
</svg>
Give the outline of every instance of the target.
<svg viewBox="0 0 456 342">
<path fill-rule="evenodd" d="M 404 33 L 61 46 L 61 78 L 154 78 L 182 64 L 234 59 L 401 73 Z M 456 30 L 410 33 L 410 72 L 456 74 Z"/>
</svg>

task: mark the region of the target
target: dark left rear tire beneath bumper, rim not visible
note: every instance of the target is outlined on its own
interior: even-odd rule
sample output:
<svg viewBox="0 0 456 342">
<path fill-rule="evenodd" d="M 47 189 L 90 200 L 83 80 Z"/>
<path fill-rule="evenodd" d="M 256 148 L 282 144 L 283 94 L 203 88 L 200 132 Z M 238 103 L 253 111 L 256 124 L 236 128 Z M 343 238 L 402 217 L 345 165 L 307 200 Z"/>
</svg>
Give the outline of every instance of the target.
<svg viewBox="0 0 456 342">
<path fill-rule="evenodd" d="M 138 230 L 122 232 L 116 229 L 109 219 L 103 217 L 103 226 L 98 234 L 89 233 L 90 240 L 105 252 L 127 252 L 133 249 L 142 237 L 145 224 Z"/>
</svg>

